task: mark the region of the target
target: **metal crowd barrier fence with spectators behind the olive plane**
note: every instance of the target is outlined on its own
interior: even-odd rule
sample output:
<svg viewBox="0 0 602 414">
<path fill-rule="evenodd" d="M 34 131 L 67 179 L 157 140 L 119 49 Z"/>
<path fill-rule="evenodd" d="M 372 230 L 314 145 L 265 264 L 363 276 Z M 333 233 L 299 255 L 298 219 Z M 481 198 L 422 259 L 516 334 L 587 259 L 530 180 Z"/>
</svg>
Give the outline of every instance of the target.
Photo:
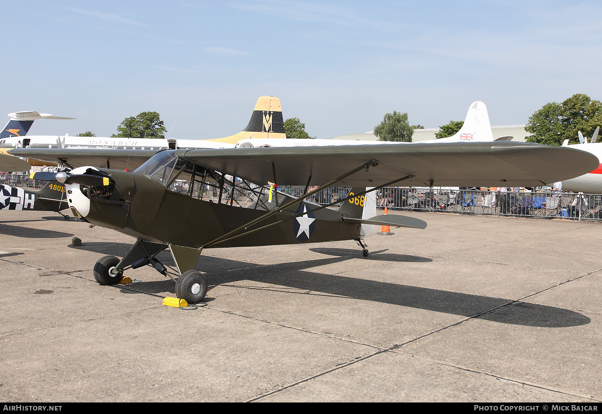
<svg viewBox="0 0 602 414">
<path fill-rule="evenodd" d="M 0 183 L 14 187 L 40 189 L 45 181 L 33 180 L 29 174 L 0 174 Z M 178 185 L 182 186 L 182 183 Z M 309 191 L 317 187 L 309 187 Z M 171 188 L 170 188 L 171 189 Z M 188 193 L 188 188 L 172 189 Z M 303 186 L 278 186 L 288 195 L 301 196 Z M 315 193 L 309 201 L 330 204 L 349 195 L 351 187 L 332 186 Z M 193 196 L 216 199 L 219 189 L 205 187 L 202 195 L 194 189 Z M 266 192 L 267 193 L 267 192 Z M 231 202 L 229 190 L 225 189 L 222 202 Z M 238 205 L 249 205 L 253 198 L 250 191 L 236 189 L 234 201 Z M 334 207 L 340 203 L 334 204 Z M 400 210 L 414 212 L 459 213 L 472 215 L 517 216 L 524 218 L 557 218 L 577 221 L 602 221 L 602 195 L 550 191 L 530 191 L 514 188 L 508 192 L 489 189 L 443 189 L 428 187 L 385 187 L 376 192 L 378 210 Z"/>
</svg>

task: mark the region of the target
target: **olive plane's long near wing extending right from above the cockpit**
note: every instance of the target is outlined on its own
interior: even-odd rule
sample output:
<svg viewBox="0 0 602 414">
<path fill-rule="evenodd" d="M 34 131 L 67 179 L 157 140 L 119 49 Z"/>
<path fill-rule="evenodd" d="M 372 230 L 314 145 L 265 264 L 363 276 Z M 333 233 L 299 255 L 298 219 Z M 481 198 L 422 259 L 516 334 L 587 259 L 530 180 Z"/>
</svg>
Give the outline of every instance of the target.
<svg viewBox="0 0 602 414">
<path fill-rule="evenodd" d="M 325 184 L 368 163 L 340 185 L 535 187 L 592 171 L 597 157 L 566 147 L 522 142 L 346 145 L 341 147 L 177 150 L 176 155 L 257 184 Z"/>
</svg>

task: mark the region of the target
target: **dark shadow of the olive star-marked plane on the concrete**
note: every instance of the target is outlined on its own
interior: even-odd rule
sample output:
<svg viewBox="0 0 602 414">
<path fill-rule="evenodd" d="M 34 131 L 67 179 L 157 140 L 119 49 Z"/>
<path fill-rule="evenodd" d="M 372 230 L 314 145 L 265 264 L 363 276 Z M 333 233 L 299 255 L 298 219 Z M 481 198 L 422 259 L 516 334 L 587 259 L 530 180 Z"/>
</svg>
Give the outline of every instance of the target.
<svg viewBox="0 0 602 414">
<path fill-rule="evenodd" d="M 122 256 L 130 248 L 126 243 L 84 243 L 78 249 Z M 221 284 L 233 284 L 237 281 L 254 281 L 266 285 L 275 285 L 278 291 L 282 287 L 290 287 L 295 291 L 309 291 L 349 297 L 357 300 L 389 303 L 391 305 L 408 306 L 435 312 L 479 318 L 500 323 L 536 327 L 568 327 L 588 324 L 591 320 L 585 315 L 568 309 L 554 306 L 537 305 L 535 303 L 517 302 L 500 297 L 480 296 L 475 294 L 450 292 L 431 288 L 400 285 L 389 282 L 350 278 L 342 275 L 329 275 L 319 272 L 308 272 L 318 266 L 357 258 L 358 260 L 428 262 L 429 258 L 371 253 L 362 257 L 359 249 L 312 248 L 312 252 L 329 255 L 322 259 L 276 264 L 255 264 L 225 258 L 201 255 L 196 269 L 206 273 L 211 287 Z M 384 252 L 384 251 L 381 251 Z M 158 259 L 166 266 L 174 266 L 169 252 L 162 252 Z M 134 272 L 128 274 L 135 278 Z M 237 285 L 241 288 L 269 290 L 267 287 Z M 140 282 L 122 288 L 123 293 L 163 293 L 175 292 L 175 284 L 171 279 L 158 282 Z M 292 293 L 292 292 L 291 292 Z M 298 293 L 305 294 L 305 293 Z M 206 301 L 213 300 L 208 293 Z"/>
</svg>

